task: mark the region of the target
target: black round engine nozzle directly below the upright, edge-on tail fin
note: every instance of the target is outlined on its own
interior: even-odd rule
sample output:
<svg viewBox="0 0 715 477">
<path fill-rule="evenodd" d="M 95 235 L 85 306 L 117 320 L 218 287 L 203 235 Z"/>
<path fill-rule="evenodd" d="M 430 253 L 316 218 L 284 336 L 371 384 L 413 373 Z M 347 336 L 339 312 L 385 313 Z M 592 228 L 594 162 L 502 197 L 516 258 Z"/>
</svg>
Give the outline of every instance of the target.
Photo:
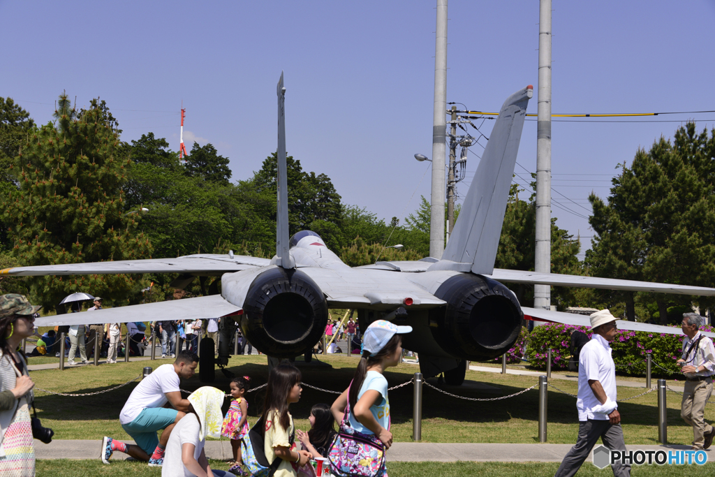
<svg viewBox="0 0 715 477">
<path fill-rule="evenodd" d="M 327 325 L 327 300 L 300 270 L 267 270 L 253 280 L 239 321 L 244 336 L 261 353 L 275 358 L 303 355 L 320 340 Z"/>
</svg>

